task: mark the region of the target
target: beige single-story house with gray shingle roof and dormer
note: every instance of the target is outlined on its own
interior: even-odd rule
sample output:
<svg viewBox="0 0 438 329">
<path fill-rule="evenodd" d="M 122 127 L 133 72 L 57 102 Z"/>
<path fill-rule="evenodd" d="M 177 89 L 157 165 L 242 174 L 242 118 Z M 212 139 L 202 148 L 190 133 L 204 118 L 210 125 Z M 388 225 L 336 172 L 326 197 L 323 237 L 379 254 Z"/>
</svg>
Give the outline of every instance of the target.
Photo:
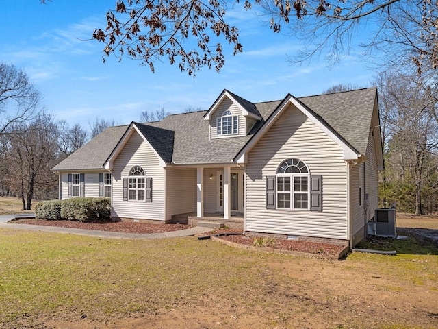
<svg viewBox="0 0 438 329">
<path fill-rule="evenodd" d="M 224 90 L 207 111 L 110 127 L 53 168 L 60 199 L 111 197 L 115 219 L 240 217 L 251 234 L 350 245 L 382 169 L 376 88 L 263 103 Z"/>
</svg>

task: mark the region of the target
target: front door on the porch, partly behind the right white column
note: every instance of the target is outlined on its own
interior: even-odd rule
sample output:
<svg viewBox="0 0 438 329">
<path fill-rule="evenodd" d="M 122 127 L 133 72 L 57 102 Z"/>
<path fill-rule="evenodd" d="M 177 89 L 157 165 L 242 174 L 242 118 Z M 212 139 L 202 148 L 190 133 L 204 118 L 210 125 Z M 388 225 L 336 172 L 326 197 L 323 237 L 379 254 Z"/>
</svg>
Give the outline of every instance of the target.
<svg viewBox="0 0 438 329">
<path fill-rule="evenodd" d="M 224 175 L 222 171 L 218 171 L 218 211 L 224 211 Z M 242 212 L 243 211 L 243 200 L 244 200 L 244 174 L 243 171 L 231 172 L 230 175 L 230 198 L 231 198 L 231 211 Z"/>
</svg>

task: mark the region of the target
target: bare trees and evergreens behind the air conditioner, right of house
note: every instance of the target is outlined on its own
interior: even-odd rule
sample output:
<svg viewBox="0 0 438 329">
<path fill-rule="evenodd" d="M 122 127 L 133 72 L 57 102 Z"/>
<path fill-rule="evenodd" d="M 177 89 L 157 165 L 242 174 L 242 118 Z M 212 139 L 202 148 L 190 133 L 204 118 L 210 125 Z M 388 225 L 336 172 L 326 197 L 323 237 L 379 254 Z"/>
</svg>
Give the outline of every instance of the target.
<svg viewBox="0 0 438 329">
<path fill-rule="evenodd" d="M 434 73 L 435 74 L 435 73 Z M 435 75 L 384 71 L 378 87 L 385 171 L 380 206 L 396 202 L 399 212 L 438 210 L 438 114 Z"/>
</svg>

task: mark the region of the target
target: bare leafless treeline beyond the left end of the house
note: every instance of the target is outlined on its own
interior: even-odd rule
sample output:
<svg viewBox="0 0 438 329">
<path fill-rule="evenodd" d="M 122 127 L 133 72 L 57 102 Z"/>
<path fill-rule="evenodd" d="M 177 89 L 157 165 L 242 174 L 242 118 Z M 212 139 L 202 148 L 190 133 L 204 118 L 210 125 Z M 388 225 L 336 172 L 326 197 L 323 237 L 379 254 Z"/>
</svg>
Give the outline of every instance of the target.
<svg viewBox="0 0 438 329">
<path fill-rule="evenodd" d="M 96 118 L 89 131 L 57 120 L 26 73 L 0 62 L 0 195 L 20 197 L 23 209 L 32 199 L 56 199 L 57 175 L 50 169 L 85 145 L 114 121 Z"/>
</svg>

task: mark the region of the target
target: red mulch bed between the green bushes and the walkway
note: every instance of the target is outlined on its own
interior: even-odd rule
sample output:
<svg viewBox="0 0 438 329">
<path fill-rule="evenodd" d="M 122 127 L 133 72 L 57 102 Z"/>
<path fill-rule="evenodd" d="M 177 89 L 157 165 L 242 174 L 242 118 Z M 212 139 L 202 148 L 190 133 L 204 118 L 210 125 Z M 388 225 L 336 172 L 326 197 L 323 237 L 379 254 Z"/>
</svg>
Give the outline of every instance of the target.
<svg viewBox="0 0 438 329">
<path fill-rule="evenodd" d="M 31 225 L 57 226 L 60 228 L 83 228 L 85 230 L 99 230 L 106 232 L 124 232 L 124 233 L 164 233 L 190 228 L 184 224 L 149 224 L 138 223 L 134 221 L 116 221 L 103 223 L 82 223 L 81 221 L 46 221 L 43 219 L 26 219 L 14 221 L 14 223 L 23 223 Z"/>
</svg>

